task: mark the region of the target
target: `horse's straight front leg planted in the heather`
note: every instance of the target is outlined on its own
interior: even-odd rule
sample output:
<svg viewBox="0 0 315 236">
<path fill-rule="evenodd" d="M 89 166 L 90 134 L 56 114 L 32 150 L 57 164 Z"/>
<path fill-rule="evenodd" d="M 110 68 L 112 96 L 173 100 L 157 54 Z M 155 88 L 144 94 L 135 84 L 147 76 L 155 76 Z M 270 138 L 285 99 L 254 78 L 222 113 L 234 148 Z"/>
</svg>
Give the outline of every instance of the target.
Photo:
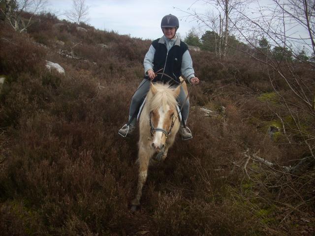
<svg viewBox="0 0 315 236">
<path fill-rule="evenodd" d="M 147 150 L 146 148 L 139 148 L 139 176 L 138 176 L 138 186 L 135 198 L 132 200 L 131 210 L 134 211 L 140 205 L 140 198 L 142 195 L 142 188 L 144 183 L 147 180 L 148 176 L 148 166 L 150 157 L 153 155 L 153 151 L 151 149 Z"/>
</svg>

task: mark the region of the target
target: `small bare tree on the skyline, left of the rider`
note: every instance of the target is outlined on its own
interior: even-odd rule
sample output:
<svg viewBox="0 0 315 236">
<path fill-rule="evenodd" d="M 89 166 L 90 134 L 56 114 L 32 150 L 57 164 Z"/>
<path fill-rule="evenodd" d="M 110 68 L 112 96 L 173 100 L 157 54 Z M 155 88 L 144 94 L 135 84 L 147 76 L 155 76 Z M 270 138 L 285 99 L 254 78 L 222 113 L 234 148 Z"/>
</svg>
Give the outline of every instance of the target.
<svg viewBox="0 0 315 236">
<path fill-rule="evenodd" d="M 87 23 L 89 21 L 89 5 L 86 5 L 85 0 L 72 0 L 72 9 L 65 12 L 65 16 L 72 22 L 79 24 L 80 22 Z"/>
</svg>

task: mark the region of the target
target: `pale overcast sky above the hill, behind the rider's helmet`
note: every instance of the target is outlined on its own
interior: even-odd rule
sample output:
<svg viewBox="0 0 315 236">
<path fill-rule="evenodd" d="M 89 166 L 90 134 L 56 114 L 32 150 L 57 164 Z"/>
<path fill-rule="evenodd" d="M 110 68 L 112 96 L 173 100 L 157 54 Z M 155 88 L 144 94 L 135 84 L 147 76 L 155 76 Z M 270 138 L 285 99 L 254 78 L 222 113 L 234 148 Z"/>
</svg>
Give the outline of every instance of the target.
<svg viewBox="0 0 315 236">
<path fill-rule="evenodd" d="M 86 4 L 90 6 L 89 25 L 142 39 L 161 37 L 161 19 L 167 14 L 179 18 L 178 32 L 185 38 L 189 29 L 198 24 L 187 19 L 187 14 L 181 10 L 187 10 L 191 4 L 197 11 L 204 11 L 206 7 L 202 1 L 196 0 L 86 0 Z M 66 19 L 62 14 L 70 10 L 71 5 L 72 0 L 49 0 L 48 10 L 56 12 L 58 18 Z"/>
</svg>

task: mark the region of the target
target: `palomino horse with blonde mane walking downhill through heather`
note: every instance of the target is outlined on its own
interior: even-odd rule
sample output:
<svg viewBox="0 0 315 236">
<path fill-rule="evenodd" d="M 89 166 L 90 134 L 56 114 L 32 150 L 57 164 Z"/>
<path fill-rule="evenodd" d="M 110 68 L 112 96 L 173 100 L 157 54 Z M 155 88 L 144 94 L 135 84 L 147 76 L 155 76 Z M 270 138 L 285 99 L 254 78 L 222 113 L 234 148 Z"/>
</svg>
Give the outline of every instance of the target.
<svg viewBox="0 0 315 236">
<path fill-rule="evenodd" d="M 186 83 L 182 83 L 183 89 L 188 94 Z M 174 141 L 180 127 L 180 120 L 176 109 L 176 97 L 181 86 L 172 89 L 164 84 L 152 84 L 147 95 L 146 103 L 140 116 L 139 139 L 139 177 L 137 192 L 131 202 L 131 210 L 136 210 L 140 205 L 142 187 L 147 179 L 150 158 L 158 153 L 161 160 L 165 160 L 168 148 Z"/>
</svg>

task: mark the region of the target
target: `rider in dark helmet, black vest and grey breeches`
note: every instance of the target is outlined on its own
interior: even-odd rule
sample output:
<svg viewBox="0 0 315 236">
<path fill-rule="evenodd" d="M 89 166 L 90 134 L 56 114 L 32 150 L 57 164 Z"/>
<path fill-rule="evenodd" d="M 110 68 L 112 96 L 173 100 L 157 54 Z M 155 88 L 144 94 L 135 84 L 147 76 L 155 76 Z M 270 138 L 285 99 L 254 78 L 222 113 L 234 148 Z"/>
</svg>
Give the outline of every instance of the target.
<svg viewBox="0 0 315 236">
<path fill-rule="evenodd" d="M 162 18 L 161 29 L 164 35 L 152 42 L 144 58 L 145 76 L 132 97 L 129 109 L 129 122 L 118 131 L 121 136 L 126 137 L 127 134 L 133 132 L 136 123 L 136 113 L 150 89 L 151 80 L 153 82 L 168 83 L 170 86 L 177 86 L 181 84 L 180 76 L 183 75 L 190 84 L 195 85 L 199 83 L 199 79 L 194 75 L 188 46 L 176 35 L 178 28 L 179 21 L 176 16 L 169 14 Z M 177 100 L 181 107 L 184 123 L 181 125 L 179 132 L 183 140 L 188 140 L 192 138 L 189 128 L 185 125 L 189 115 L 189 99 L 186 99 L 183 87 Z"/>
</svg>

